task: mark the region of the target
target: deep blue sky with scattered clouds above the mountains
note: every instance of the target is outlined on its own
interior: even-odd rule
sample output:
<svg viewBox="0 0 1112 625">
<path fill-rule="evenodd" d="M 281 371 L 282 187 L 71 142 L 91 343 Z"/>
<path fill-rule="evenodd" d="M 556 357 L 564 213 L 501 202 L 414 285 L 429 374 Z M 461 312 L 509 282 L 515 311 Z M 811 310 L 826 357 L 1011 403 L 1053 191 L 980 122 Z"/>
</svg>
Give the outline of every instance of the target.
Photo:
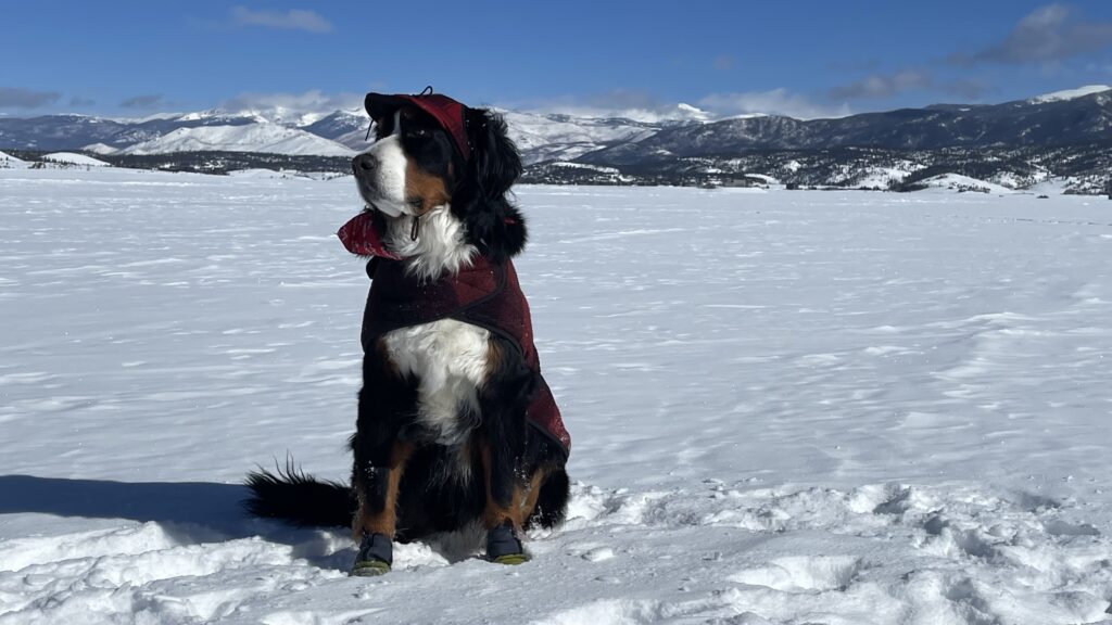
<svg viewBox="0 0 1112 625">
<path fill-rule="evenodd" d="M 0 115 L 471 106 L 797 118 L 1112 85 L 1112 2 L 11 2 Z"/>
</svg>

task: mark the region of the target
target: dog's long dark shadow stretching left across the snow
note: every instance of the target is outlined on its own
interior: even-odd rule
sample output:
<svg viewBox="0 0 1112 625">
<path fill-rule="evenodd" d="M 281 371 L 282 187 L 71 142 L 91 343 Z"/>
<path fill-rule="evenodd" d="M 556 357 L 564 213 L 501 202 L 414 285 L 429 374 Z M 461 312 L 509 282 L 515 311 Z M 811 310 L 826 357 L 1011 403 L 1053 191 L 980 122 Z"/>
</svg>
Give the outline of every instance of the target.
<svg viewBox="0 0 1112 625">
<path fill-rule="evenodd" d="M 206 482 L 111 482 L 31 475 L 0 476 L 0 515 L 157 523 L 176 543 L 191 545 L 261 536 L 292 547 L 292 557 L 346 571 L 353 549 L 347 530 L 299 529 L 247 515 L 246 486 Z"/>
</svg>

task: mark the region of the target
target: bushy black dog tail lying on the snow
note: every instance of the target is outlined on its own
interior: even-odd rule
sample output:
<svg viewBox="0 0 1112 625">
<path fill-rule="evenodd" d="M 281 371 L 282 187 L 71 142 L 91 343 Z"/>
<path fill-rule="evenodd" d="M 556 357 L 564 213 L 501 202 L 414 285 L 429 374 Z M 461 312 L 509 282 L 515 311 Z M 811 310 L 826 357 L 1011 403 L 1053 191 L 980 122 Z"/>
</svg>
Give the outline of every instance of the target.
<svg viewBox="0 0 1112 625">
<path fill-rule="evenodd" d="M 300 527 L 348 527 L 355 515 L 351 488 L 338 482 L 319 480 L 287 462 L 285 470 L 266 469 L 247 476 L 251 496 L 247 512 L 264 518 L 285 520 Z"/>
</svg>

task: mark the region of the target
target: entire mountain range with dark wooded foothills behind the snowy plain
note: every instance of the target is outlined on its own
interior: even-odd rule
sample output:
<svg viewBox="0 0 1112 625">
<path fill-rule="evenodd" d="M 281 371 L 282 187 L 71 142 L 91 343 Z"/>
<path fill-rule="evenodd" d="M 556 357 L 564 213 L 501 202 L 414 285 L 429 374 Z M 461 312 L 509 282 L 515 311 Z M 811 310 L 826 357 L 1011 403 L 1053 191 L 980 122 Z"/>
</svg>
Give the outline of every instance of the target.
<svg viewBox="0 0 1112 625">
<path fill-rule="evenodd" d="M 1074 177 L 1086 188 L 1100 188 L 1102 173 L 1106 178 L 1101 168 L 1112 166 L 1101 156 L 1112 146 L 1108 86 L 999 105 L 934 105 L 812 120 L 775 115 L 715 119 L 686 105 L 647 121 L 499 112 L 522 150 L 530 181 L 721 183 L 759 173 L 796 183 L 844 186 L 892 170 L 890 178 L 900 183 L 940 162 L 960 161 L 963 173 L 983 170 L 977 162 L 995 162 L 1004 165 L 989 167 L 990 177 Z M 336 157 L 335 168 L 346 169 L 346 157 L 367 146 L 368 123 L 361 110 L 301 115 L 215 109 L 143 119 L 0 117 L 0 149 L 87 151 L 109 161 L 157 161 L 160 155 L 179 155 L 180 161 L 181 153 L 208 152 L 268 155 L 268 162 L 280 160 L 275 155 L 301 157 L 299 162 L 304 157 Z M 250 157 L 231 160 L 244 158 Z M 826 171 L 837 163 L 847 171 L 840 179 Z"/>
</svg>

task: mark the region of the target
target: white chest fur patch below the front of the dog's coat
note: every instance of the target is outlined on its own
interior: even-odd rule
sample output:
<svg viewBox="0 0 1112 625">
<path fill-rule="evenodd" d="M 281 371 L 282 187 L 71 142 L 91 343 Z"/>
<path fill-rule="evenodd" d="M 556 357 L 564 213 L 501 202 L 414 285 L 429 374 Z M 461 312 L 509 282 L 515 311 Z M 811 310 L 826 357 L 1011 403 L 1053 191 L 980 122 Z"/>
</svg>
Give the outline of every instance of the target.
<svg viewBox="0 0 1112 625">
<path fill-rule="evenodd" d="M 418 418 L 441 445 L 459 445 L 477 424 L 478 389 L 487 377 L 490 333 L 441 319 L 386 334 L 390 360 L 417 378 Z"/>
</svg>

